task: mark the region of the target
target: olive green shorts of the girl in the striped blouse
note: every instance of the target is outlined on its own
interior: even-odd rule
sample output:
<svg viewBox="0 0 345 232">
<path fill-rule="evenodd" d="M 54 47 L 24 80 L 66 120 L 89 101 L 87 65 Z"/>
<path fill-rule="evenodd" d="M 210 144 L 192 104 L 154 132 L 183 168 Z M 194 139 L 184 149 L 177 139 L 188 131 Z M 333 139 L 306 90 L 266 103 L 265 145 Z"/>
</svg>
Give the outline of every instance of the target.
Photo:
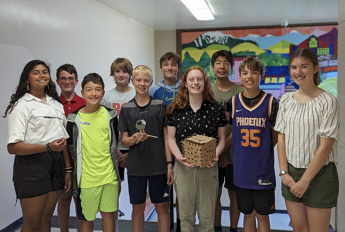
<svg viewBox="0 0 345 232">
<path fill-rule="evenodd" d="M 295 168 L 289 164 L 289 174 L 295 182 L 300 180 L 306 168 Z M 290 193 L 290 187 L 282 183 L 282 195 L 285 199 L 303 203 L 312 208 L 333 208 L 337 206 L 339 193 L 339 179 L 337 169 L 333 162 L 324 165 L 310 182 L 307 191 L 302 198 Z"/>
</svg>

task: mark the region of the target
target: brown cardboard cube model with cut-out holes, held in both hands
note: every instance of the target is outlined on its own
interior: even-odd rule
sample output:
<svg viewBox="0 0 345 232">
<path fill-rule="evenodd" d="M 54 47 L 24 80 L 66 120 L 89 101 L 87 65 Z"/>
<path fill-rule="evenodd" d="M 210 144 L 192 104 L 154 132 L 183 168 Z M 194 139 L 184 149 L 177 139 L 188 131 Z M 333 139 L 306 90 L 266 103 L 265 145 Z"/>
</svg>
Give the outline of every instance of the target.
<svg viewBox="0 0 345 232">
<path fill-rule="evenodd" d="M 187 163 L 204 168 L 216 157 L 216 139 L 193 135 L 182 141 L 182 150 Z"/>
</svg>

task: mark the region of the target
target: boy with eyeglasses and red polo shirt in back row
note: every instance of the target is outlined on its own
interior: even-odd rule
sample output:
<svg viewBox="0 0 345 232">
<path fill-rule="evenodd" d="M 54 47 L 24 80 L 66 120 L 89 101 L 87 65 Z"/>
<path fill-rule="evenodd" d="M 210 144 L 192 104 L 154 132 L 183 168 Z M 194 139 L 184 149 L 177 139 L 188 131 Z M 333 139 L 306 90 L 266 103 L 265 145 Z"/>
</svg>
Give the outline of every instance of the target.
<svg viewBox="0 0 345 232">
<path fill-rule="evenodd" d="M 65 111 L 65 116 L 67 118 L 69 113 L 78 110 L 81 106 L 86 104 L 84 98 L 78 96 L 75 92 L 76 85 L 78 84 L 78 73 L 76 67 L 71 64 L 61 65 L 56 69 L 56 83 L 60 86 L 61 94 L 60 100 L 63 105 L 63 110 Z M 68 192 L 61 192 L 60 198 L 58 200 L 58 219 L 61 232 L 68 232 L 69 227 L 69 213 L 70 204 L 72 196 L 74 203 L 77 200 L 77 187 L 74 175 L 74 164 L 71 159 L 71 164 L 73 167 L 73 184 Z M 77 219 L 77 231 L 80 232 L 80 220 L 78 219 L 77 209 L 76 209 L 76 219 Z"/>
</svg>

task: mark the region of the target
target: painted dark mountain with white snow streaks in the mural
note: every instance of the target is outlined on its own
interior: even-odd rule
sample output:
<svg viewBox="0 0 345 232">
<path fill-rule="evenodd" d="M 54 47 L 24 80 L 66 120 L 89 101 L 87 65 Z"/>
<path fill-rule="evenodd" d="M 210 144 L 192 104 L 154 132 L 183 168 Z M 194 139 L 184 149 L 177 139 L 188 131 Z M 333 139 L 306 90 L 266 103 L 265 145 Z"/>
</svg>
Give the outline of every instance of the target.
<svg viewBox="0 0 345 232">
<path fill-rule="evenodd" d="M 182 44 L 182 49 L 187 47 L 205 49 L 211 44 L 221 44 L 232 48 L 244 42 L 257 45 L 257 43 L 252 40 L 235 39 L 233 36 L 223 34 L 220 31 L 208 31 L 198 36 L 198 38 L 196 38 L 193 42 L 190 42 L 188 44 Z"/>
</svg>

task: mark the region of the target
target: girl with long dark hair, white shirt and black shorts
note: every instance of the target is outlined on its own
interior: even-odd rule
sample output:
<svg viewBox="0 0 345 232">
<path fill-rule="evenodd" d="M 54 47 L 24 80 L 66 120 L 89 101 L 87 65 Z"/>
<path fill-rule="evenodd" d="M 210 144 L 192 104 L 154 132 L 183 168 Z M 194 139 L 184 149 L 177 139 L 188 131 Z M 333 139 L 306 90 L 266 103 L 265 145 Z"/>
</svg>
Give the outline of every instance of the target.
<svg viewBox="0 0 345 232">
<path fill-rule="evenodd" d="M 45 116 L 65 118 L 49 66 L 33 60 L 25 65 L 4 115 L 7 150 L 16 155 L 13 184 L 23 213 L 22 231 L 50 231 L 60 191 L 68 191 L 72 183 L 65 126 Z"/>
</svg>

